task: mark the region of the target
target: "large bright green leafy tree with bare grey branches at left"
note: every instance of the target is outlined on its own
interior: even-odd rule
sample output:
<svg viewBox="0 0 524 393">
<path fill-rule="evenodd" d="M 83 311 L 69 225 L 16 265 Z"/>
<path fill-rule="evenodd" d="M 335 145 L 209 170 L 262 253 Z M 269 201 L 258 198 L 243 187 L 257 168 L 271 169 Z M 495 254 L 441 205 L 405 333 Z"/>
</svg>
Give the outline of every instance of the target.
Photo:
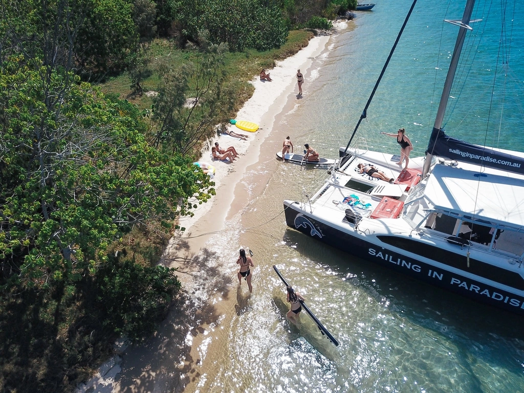
<svg viewBox="0 0 524 393">
<path fill-rule="evenodd" d="M 28 287 L 93 273 L 133 225 L 167 231 L 188 198 L 214 193 L 190 157 L 148 144 L 134 105 L 42 74 L 23 58 L 0 73 L 0 264 L 4 283 Z"/>
</svg>

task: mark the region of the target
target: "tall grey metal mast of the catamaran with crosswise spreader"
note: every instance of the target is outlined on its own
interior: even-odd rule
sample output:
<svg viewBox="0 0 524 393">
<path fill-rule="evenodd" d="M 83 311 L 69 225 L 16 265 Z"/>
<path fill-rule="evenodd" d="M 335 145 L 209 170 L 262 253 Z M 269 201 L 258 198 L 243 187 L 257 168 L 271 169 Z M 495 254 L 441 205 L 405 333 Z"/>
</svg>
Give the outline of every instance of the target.
<svg viewBox="0 0 524 393">
<path fill-rule="evenodd" d="M 450 68 L 447 69 L 446 80 L 444 82 L 444 88 L 442 90 L 442 95 L 440 97 L 439 110 L 436 112 L 435 124 L 433 125 L 433 130 L 431 132 L 430 141 L 436 140 L 436 137 L 440 133 L 440 128 L 442 127 L 442 121 L 444 119 L 444 113 L 446 111 L 447 101 L 450 97 L 451 85 L 453 84 L 453 79 L 455 78 L 455 72 L 457 65 L 459 64 L 460 55 L 462 52 L 462 46 L 464 45 L 464 39 L 466 38 L 466 30 L 473 30 L 470 25 L 471 14 L 473 13 L 473 6 L 475 0 L 467 0 L 466 7 L 464 8 L 464 15 L 462 16 L 462 21 L 459 20 L 445 20 L 453 25 L 460 26 L 459 35 L 457 36 L 455 42 L 455 49 L 453 50 L 453 56 L 451 57 Z M 422 171 L 422 177 L 428 173 L 431 166 L 431 159 L 433 158 L 432 152 L 428 149 L 426 152 L 426 158 L 424 162 L 424 169 Z"/>
</svg>

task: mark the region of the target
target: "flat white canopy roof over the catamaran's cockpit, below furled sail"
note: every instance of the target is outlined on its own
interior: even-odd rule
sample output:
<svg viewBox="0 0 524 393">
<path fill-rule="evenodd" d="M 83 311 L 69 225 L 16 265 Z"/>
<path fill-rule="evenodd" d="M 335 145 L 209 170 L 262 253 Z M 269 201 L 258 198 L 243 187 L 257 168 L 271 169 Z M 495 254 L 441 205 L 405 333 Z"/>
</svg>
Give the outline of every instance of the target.
<svg viewBox="0 0 524 393">
<path fill-rule="evenodd" d="M 435 210 L 524 230 L 524 180 L 435 165 L 424 198 Z"/>
</svg>

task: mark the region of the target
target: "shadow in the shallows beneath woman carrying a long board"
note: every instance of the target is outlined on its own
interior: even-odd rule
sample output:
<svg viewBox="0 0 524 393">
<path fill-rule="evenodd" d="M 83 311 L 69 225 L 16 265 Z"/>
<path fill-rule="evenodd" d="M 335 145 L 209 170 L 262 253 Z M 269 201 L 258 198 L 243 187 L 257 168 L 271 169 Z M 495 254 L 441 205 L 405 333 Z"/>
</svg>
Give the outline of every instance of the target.
<svg viewBox="0 0 524 393">
<path fill-rule="evenodd" d="M 286 316 L 289 311 L 289 304 L 277 291 L 273 293 L 272 305 L 275 312 L 279 315 L 282 328 L 288 332 L 287 339 L 289 346 L 293 350 L 304 353 L 317 352 L 319 364 L 325 364 L 326 361 L 336 361 L 336 347 L 321 334 L 305 312 L 300 313 L 296 322 L 291 322 Z"/>
</svg>

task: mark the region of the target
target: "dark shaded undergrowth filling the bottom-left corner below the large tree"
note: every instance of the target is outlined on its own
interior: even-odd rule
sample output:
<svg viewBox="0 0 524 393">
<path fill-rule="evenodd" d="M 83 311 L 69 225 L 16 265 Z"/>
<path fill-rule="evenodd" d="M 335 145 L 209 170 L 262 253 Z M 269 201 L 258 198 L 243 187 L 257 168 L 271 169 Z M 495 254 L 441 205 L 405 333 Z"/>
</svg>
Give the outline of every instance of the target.
<svg viewBox="0 0 524 393">
<path fill-rule="evenodd" d="M 0 391 L 73 391 L 119 336 L 154 332 L 180 289 L 173 269 L 111 257 L 94 279 L 2 292 Z"/>
</svg>

